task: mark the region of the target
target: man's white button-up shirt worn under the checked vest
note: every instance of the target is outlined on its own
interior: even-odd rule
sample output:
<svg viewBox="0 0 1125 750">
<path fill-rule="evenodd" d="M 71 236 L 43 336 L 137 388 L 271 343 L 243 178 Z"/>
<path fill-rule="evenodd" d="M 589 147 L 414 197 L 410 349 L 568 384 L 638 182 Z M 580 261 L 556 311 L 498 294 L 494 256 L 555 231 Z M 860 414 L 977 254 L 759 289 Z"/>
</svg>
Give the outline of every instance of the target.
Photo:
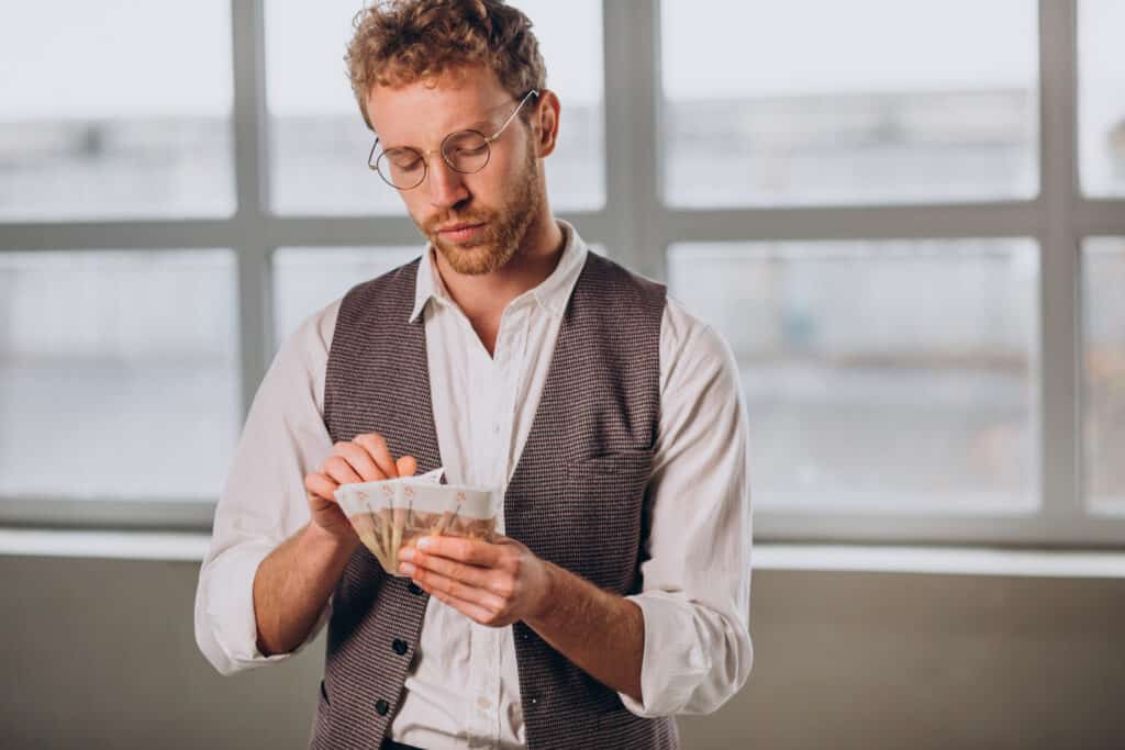
<svg viewBox="0 0 1125 750">
<path fill-rule="evenodd" d="M 503 491 L 515 470 L 562 313 L 591 252 L 574 227 L 560 226 L 567 242 L 557 268 L 505 308 L 492 356 L 449 297 L 432 249 L 422 257 L 412 319 L 424 315 L 434 427 L 451 482 Z M 273 359 L 219 497 L 195 618 L 199 648 L 224 675 L 292 656 L 258 651 L 253 579 L 259 563 L 308 523 L 304 477 L 332 453 L 324 376 L 340 301 L 305 320 Z M 620 694 L 639 716 L 710 713 L 742 686 L 753 662 L 738 369 L 720 335 L 670 298 L 659 383 L 649 558 L 642 591 L 629 597 L 645 620 L 644 703 Z M 330 598 L 306 644 L 331 611 Z M 478 625 L 431 597 L 390 733 L 429 750 L 524 747 L 511 627 Z"/>
</svg>

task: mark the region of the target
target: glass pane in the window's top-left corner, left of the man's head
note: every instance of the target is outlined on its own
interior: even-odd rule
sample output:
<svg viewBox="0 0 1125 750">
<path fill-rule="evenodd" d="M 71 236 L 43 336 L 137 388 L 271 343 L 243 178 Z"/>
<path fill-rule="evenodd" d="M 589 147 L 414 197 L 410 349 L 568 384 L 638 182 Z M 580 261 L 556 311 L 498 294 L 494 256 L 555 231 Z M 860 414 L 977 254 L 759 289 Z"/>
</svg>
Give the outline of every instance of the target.
<svg viewBox="0 0 1125 750">
<path fill-rule="evenodd" d="M 232 214 L 230 13 L 230 0 L 12 3 L 0 219 Z"/>
</svg>

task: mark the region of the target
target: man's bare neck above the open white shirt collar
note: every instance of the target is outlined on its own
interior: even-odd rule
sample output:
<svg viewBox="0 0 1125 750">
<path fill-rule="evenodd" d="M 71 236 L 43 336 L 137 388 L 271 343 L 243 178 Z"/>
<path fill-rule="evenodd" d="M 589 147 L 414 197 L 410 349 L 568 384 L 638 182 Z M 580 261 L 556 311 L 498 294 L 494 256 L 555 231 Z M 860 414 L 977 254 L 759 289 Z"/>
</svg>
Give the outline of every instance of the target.
<svg viewBox="0 0 1125 750">
<path fill-rule="evenodd" d="M 467 275 L 454 271 L 440 252 L 433 259 L 450 297 L 469 320 L 490 327 L 489 322 L 498 325 L 508 302 L 551 274 L 562 256 L 564 240 L 550 210 L 543 210 L 528 227 L 512 260 L 492 273 Z"/>
</svg>

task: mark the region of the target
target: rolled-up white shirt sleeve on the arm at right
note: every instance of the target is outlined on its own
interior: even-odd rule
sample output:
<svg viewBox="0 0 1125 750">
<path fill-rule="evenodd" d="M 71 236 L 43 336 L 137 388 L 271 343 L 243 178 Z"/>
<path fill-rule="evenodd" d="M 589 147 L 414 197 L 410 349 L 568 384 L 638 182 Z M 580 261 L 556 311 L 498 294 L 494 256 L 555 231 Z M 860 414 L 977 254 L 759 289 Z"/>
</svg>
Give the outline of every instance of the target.
<svg viewBox="0 0 1125 750">
<path fill-rule="evenodd" d="M 639 716 L 706 714 L 746 683 L 750 496 L 738 367 L 712 328 L 668 300 L 660 338 L 662 416 L 647 501 Z"/>
</svg>

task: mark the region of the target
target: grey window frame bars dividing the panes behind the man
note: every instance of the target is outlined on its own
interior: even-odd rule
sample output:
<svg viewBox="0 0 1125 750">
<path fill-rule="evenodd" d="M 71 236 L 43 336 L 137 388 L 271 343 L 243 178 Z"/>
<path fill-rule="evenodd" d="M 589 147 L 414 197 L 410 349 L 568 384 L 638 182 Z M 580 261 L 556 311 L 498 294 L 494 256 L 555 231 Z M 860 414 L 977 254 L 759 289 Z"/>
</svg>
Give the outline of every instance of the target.
<svg viewBox="0 0 1125 750">
<path fill-rule="evenodd" d="M 674 209 L 660 186 L 660 0 L 603 0 L 605 205 L 561 213 L 612 256 L 665 278 L 678 242 L 1029 237 L 1040 246 L 1038 508 L 951 515 L 759 510 L 777 541 L 1125 548 L 1125 514 L 1096 513 L 1082 489 L 1081 244 L 1125 236 L 1125 199 L 1081 193 L 1078 2 L 1038 0 L 1040 190 L 1028 200 L 896 206 Z M 240 385 L 245 418 L 273 353 L 271 256 L 286 246 L 418 244 L 404 216 L 281 216 L 269 209 L 264 0 L 231 0 L 236 210 L 228 218 L 0 223 L 0 252 L 230 247 L 237 256 Z M 1050 313 L 1050 314 L 1047 314 Z M 750 415 L 753 433 L 754 415 Z M 754 494 L 754 467 L 750 466 Z M 0 523 L 207 530 L 216 498 L 0 498 Z"/>
</svg>

